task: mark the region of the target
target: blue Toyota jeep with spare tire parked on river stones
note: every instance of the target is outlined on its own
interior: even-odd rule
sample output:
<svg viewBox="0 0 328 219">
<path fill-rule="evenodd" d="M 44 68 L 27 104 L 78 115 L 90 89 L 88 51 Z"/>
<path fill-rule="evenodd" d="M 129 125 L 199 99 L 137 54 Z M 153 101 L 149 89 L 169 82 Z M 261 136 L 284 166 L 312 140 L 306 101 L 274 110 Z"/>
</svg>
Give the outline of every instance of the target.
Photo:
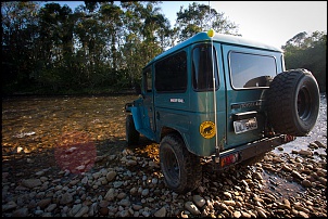
<svg viewBox="0 0 328 219">
<path fill-rule="evenodd" d="M 165 183 L 185 193 L 200 185 L 201 160 L 224 170 L 306 136 L 319 90 L 311 72 L 285 69 L 280 49 L 199 33 L 144 66 L 125 108 L 127 144 L 160 143 Z"/>
</svg>

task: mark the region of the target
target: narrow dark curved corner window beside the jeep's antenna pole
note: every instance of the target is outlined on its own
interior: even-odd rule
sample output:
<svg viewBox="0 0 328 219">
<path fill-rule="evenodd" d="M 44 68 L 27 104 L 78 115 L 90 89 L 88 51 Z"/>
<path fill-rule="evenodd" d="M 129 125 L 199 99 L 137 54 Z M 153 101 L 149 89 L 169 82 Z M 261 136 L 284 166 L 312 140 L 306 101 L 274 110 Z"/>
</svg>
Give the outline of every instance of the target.
<svg viewBox="0 0 328 219">
<path fill-rule="evenodd" d="M 192 87 L 197 91 L 213 90 L 213 60 L 216 61 L 215 48 L 211 44 L 200 44 L 192 50 Z M 214 62 L 215 88 L 218 87 L 217 65 Z"/>
</svg>

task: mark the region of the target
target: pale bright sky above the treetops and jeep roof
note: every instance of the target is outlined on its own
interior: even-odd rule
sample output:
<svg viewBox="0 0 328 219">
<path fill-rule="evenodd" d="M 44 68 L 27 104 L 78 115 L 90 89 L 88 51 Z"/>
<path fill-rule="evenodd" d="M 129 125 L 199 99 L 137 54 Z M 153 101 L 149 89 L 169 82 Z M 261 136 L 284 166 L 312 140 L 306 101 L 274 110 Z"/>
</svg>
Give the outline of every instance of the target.
<svg viewBox="0 0 328 219">
<path fill-rule="evenodd" d="M 48 1 L 51 2 L 51 1 Z M 193 1 L 162 1 L 159 7 L 171 21 L 184 5 L 187 9 Z M 244 38 L 281 48 L 301 31 L 327 33 L 327 1 L 195 1 L 223 12 L 225 17 L 238 25 Z M 83 1 L 61 1 L 74 11 Z M 115 2 L 116 3 L 116 2 Z M 116 3 L 119 5 L 119 2 Z"/>
</svg>

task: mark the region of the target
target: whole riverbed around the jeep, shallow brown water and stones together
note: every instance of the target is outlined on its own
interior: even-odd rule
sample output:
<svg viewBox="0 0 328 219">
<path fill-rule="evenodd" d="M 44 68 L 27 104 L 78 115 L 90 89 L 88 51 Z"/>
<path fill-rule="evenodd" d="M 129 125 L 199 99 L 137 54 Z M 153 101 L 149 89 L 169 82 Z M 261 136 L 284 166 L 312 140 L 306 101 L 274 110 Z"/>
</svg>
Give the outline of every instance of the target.
<svg viewBox="0 0 328 219">
<path fill-rule="evenodd" d="M 168 190 L 157 144 L 125 145 L 136 96 L 2 102 L 2 217 L 327 217 L 327 103 L 307 137 Z"/>
</svg>

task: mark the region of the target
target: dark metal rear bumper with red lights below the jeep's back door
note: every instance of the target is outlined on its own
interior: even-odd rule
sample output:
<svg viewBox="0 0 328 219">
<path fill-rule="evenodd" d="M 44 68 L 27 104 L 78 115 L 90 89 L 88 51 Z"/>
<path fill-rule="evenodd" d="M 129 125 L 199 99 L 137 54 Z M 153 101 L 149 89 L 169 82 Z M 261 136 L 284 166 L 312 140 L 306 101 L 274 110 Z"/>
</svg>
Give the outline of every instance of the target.
<svg viewBox="0 0 328 219">
<path fill-rule="evenodd" d="M 265 138 L 256 142 L 248 143 L 231 150 L 217 153 L 212 156 L 215 169 L 224 169 L 231 165 L 236 165 L 260 154 L 269 152 L 276 146 L 293 141 L 295 137 L 280 134 L 273 138 Z"/>
</svg>

